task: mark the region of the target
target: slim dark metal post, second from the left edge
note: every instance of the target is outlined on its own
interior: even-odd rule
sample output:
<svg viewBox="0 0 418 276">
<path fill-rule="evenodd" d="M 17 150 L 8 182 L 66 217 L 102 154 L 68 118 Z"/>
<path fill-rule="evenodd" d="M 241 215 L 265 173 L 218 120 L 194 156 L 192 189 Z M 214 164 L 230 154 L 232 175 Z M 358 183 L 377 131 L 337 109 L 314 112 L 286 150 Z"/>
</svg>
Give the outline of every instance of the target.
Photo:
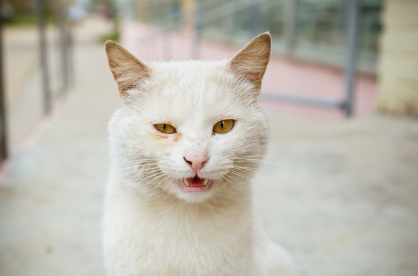
<svg viewBox="0 0 418 276">
<path fill-rule="evenodd" d="M 49 86 L 49 70 L 47 57 L 47 41 L 45 27 L 45 1 L 36 0 L 36 13 L 38 17 L 39 30 L 39 51 L 40 64 L 42 72 L 42 86 L 44 96 L 44 113 L 47 114 L 51 110 L 51 88 Z"/>
</svg>

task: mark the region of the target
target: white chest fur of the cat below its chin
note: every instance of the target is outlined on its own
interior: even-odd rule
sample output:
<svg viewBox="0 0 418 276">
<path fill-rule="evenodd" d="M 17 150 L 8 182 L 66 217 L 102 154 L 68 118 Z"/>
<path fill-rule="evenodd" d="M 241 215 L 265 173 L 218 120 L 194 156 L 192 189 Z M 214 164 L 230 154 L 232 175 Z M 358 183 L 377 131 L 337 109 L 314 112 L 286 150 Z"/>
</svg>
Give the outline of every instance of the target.
<svg viewBox="0 0 418 276">
<path fill-rule="evenodd" d="M 108 189 L 110 275 L 257 275 L 249 199 L 219 210 L 209 203 L 153 206 L 125 189 L 117 182 Z"/>
</svg>

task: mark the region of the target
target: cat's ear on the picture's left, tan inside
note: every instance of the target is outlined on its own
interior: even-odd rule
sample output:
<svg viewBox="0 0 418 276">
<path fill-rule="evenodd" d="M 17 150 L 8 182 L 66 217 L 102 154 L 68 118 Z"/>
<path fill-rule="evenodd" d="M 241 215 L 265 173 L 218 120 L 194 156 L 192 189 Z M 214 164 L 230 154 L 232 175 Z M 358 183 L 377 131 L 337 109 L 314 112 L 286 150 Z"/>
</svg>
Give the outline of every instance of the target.
<svg viewBox="0 0 418 276">
<path fill-rule="evenodd" d="M 151 69 L 114 41 L 105 44 L 110 70 L 123 98 L 126 91 L 151 76 Z"/>
</svg>

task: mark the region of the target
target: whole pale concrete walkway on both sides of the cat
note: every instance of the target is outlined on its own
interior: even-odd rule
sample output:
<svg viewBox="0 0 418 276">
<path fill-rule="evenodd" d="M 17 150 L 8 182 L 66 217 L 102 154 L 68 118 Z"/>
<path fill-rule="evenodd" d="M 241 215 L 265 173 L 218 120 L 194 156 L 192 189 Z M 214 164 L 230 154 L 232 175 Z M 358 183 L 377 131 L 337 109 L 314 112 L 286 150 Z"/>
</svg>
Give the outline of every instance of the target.
<svg viewBox="0 0 418 276">
<path fill-rule="evenodd" d="M 106 124 L 121 102 L 96 24 L 78 32 L 77 85 L 58 118 L 0 184 L 2 276 L 104 275 Z M 418 275 L 417 122 L 270 115 L 255 206 L 299 275 Z"/>
</svg>

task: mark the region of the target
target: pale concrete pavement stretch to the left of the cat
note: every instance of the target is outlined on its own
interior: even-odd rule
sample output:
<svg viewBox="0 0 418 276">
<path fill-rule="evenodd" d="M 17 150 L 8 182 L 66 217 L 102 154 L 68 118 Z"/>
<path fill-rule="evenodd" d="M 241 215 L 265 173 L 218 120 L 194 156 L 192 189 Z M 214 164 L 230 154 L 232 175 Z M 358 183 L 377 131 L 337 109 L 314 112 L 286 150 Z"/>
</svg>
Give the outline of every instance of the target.
<svg viewBox="0 0 418 276">
<path fill-rule="evenodd" d="M 100 218 L 106 128 L 120 101 L 104 48 L 96 43 L 105 29 L 86 27 L 77 32 L 77 85 L 63 112 L 35 147 L 14 156 L 0 185 L 2 276 L 104 275 Z"/>
</svg>

